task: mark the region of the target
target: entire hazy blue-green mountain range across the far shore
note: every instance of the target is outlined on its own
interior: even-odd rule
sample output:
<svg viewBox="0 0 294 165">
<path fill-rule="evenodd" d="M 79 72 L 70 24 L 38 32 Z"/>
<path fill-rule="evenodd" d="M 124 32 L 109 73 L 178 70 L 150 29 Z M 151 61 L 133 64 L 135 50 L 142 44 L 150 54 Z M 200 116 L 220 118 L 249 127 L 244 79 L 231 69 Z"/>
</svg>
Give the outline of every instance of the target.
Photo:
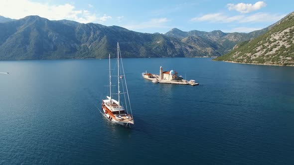
<svg viewBox="0 0 294 165">
<path fill-rule="evenodd" d="M 125 58 L 221 56 L 268 30 L 224 33 L 173 28 L 165 34 L 150 34 L 39 16 L 0 17 L 0 22 L 0 60 L 107 58 L 109 53 L 115 56 L 117 42 Z"/>
</svg>

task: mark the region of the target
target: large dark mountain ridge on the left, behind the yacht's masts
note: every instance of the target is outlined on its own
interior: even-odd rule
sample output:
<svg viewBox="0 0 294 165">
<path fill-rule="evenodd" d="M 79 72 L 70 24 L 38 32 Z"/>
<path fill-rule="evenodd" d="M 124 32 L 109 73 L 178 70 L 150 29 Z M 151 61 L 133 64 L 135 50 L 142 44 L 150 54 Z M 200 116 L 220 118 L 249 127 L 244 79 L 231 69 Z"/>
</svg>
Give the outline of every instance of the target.
<svg viewBox="0 0 294 165">
<path fill-rule="evenodd" d="M 133 32 L 119 26 L 50 21 L 39 16 L 0 23 L 0 59 L 107 58 L 119 41 L 126 58 L 192 57 L 194 48 L 162 34 Z"/>
</svg>

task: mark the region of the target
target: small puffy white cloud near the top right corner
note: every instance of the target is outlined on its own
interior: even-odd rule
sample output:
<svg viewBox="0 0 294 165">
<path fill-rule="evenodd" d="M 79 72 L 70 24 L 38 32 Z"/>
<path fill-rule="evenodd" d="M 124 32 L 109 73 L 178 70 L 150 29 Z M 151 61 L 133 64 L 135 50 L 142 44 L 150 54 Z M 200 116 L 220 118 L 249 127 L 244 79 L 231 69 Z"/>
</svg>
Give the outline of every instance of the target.
<svg viewBox="0 0 294 165">
<path fill-rule="evenodd" d="M 251 3 L 232 4 L 232 3 L 229 3 L 229 4 L 227 4 L 227 6 L 228 6 L 229 10 L 236 10 L 241 13 L 248 13 L 251 11 L 259 10 L 262 7 L 267 6 L 267 3 L 263 2 L 263 1 L 258 1 L 255 4 L 251 4 Z"/>
</svg>

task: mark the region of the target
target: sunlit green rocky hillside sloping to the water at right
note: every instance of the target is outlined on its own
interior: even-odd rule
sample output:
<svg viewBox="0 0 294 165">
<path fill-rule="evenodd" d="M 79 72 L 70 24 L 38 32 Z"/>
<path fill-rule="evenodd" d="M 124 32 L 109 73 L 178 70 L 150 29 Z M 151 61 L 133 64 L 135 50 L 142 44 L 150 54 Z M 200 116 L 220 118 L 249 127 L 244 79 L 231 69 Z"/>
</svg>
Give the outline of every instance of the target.
<svg viewBox="0 0 294 165">
<path fill-rule="evenodd" d="M 217 61 L 294 66 L 294 12 L 275 23 L 264 34 L 242 42 Z"/>
</svg>

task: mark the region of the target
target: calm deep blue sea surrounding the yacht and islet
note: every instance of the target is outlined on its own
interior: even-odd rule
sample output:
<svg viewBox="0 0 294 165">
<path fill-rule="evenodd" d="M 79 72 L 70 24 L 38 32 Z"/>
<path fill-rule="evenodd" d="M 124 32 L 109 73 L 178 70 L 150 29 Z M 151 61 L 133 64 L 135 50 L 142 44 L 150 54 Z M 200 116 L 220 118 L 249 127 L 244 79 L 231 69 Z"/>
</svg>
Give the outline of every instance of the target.
<svg viewBox="0 0 294 165">
<path fill-rule="evenodd" d="M 100 111 L 108 60 L 0 61 L 0 164 L 294 163 L 294 67 L 123 61 L 132 128 Z M 200 85 L 142 78 L 160 66 Z"/>
</svg>

